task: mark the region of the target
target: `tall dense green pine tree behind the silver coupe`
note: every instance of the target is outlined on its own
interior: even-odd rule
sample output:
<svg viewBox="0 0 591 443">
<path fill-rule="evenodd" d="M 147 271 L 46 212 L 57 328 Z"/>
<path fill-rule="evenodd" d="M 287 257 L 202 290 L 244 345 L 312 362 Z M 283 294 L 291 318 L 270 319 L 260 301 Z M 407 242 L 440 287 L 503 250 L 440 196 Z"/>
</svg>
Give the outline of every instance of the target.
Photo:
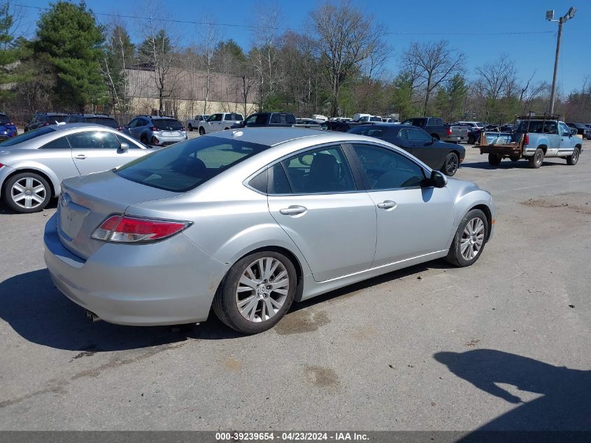
<svg viewBox="0 0 591 443">
<path fill-rule="evenodd" d="M 105 100 L 100 61 L 104 29 L 84 2 L 50 3 L 38 21 L 34 50 L 45 55 L 57 71 L 55 94 L 64 106 L 83 110 L 86 104 Z"/>
</svg>

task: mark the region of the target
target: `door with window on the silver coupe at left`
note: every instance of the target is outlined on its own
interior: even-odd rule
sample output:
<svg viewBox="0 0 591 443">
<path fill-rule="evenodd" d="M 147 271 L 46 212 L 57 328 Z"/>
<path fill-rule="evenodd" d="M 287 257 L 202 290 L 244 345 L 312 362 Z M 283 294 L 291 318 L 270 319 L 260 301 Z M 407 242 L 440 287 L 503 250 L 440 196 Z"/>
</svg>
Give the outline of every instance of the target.
<svg viewBox="0 0 591 443">
<path fill-rule="evenodd" d="M 134 148 L 123 150 L 115 134 L 106 131 L 76 132 L 67 136 L 80 175 L 106 171 L 138 157 Z M 128 143 L 129 144 L 129 143 Z M 139 150 L 143 153 L 143 150 Z"/>
</svg>

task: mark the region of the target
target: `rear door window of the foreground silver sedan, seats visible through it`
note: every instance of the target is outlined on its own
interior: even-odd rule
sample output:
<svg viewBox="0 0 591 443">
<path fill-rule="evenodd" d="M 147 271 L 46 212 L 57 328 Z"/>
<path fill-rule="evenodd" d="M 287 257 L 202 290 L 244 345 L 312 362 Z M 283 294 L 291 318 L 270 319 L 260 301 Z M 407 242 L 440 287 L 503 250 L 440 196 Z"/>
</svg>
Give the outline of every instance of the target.
<svg viewBox="0 0 591 443">
<path fill-rule="evenodd" d="M 340 146 L 311 150 L 281 164 L 296 194 L 355 190 L 353 175 Z"/>
</svg>

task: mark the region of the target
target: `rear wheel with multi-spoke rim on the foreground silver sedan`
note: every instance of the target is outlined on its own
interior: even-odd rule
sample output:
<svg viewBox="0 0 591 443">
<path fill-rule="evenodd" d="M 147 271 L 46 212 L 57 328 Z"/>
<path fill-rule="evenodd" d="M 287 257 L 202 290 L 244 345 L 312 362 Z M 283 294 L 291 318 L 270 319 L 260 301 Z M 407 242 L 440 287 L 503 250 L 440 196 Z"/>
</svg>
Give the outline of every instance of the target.
<svg viewBox="0 0 591 443">
<path fill-rule="evenodd" d="M 213 298 L 213 311 L 230 328 L 257 334 L 273 328 L 294 300 L 297 274 L 290 259 L 262 251 L 238 260 Z"/>
</svg>

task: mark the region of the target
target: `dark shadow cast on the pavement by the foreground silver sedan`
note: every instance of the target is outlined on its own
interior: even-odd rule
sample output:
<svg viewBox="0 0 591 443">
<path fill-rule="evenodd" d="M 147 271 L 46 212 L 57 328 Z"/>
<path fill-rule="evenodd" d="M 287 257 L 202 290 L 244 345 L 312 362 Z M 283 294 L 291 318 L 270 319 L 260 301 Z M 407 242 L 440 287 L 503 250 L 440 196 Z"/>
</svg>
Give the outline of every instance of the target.
<svg viewBox="0 0 591 443">
<path fill-rule="evenodd" d="M 401 269 L 294 303 L 290 312 L 344 295 L 354 295 L 358 290 L 424 272 L 429 268 L 449 267 L 443 260 L 434 260 Z M 214 340 L 243 337 L 221 323 L 213 312 L 208 321 L 201 325 L 122 326 L 104 321 L 92 323 L 85 317 L 83 308 L 55 288 L 47 269 L 26 272 L 0 283 L 0 318 L 29 342 L 69 351 L 120 351 L 182 342 L 189 338 Z"/>
</svg>

